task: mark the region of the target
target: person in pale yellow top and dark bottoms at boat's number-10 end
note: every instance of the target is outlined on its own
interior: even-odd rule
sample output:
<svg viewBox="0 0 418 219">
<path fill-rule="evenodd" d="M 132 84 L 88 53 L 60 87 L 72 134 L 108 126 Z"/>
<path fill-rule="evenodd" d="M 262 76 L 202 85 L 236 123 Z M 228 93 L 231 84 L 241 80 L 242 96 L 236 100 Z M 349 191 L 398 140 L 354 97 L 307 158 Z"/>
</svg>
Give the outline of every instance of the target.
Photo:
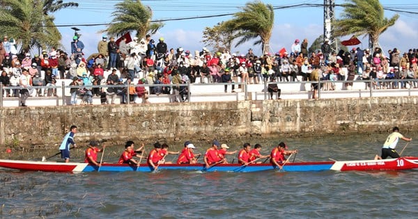
<svg viewBox="0 0 418 219">
<path fill-rule="evenodd" d="M 393 159 L 401 157 L 401 156 L 399 156 L 398 152 L 396 152 L 396 150 L 395 150 L 395 147 L 398 144 L 399 139 L 402 139 L 402 140 L 405 140 L 405 141 L 411 141 L 412 140 L 412 138 L 407 138 L 407 137 L 403 136 L 401 133 L 399 133 L 399 128 L 398 127 L 394 127 L 392 129 L 392 131 L 393 132 L 391 134 L 389 134 L 389 136 L 387 136 L 387 138 L 385 140 L 385 143 L 383 144 L 382 155 L 378 156 L 376 154 L 375 160 L 387 159 L 388 156 L 390 156 Z"/>
</svg>

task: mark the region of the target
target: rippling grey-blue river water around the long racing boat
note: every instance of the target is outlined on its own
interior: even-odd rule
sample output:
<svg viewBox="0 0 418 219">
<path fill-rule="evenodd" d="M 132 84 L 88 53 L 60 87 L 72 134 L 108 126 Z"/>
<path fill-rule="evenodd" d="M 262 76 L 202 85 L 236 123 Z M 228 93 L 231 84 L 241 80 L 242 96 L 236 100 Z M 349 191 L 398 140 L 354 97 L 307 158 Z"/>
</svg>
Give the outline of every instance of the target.
<svg viewBox="0 0 418 219">
<path fill-rule="evenodd" d="M 373 159 L 386 136 L 287 142 L 299 149 L 295 161 Z M 246 141 L 253 144 L 249 139 L 235 143 Z M 268 145 L 278 141 L 259 140 L 262 154 L 270 153 Z M 196 150 L 203 152 L 208 146 Z M 404 146 L 398 143 L 398 152 Z M 417 146 L 412 141 L 403 155 L 418 156 Z M 179 143 L 173 149 L 180 148 Z M 116 161 L 121 150 L 107 149 L 104 159 Z M 417 170 L 68 174 L 3 169 L 0 218 L 417 218 L 417 182 Z"/>
</svg>

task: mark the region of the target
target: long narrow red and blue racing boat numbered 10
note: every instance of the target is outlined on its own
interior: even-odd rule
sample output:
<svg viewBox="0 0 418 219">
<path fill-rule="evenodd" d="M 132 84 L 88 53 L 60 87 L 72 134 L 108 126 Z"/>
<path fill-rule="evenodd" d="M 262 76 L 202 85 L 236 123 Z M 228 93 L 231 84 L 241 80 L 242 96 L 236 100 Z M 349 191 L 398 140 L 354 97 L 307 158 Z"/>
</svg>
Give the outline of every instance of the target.
<svg viewBox="0 0 418 219">
<path fill-rule="evenodd" d="M 1 160 L 0 168 L 8 168 L 22 171 L 44 172 L 153 172 L 153 168 L 146 163 L 139 167 L 118 164 L 103 163 L 100 168 L 88 163 L 61 163 L 43 161 L 15 161 Z M 364 160 L 364 161 L 315 161 L 315 162 L 289 162 L 282 168 L 284 172 L 307 172 L 307 171 L 366 171 L 366 170 L 411 170 L 418 168 L 418 157 L 405 156 L 398 159 Z M 259 172 L 280 170 L 279 167 L 270 163 L 251 163 L 241 165 L 238 163 L 217 164 L 206 168 L 203 163 L 197 164 L 161 164 L 158 171 L 201 171 L 201 172 Z"/>
</svg>

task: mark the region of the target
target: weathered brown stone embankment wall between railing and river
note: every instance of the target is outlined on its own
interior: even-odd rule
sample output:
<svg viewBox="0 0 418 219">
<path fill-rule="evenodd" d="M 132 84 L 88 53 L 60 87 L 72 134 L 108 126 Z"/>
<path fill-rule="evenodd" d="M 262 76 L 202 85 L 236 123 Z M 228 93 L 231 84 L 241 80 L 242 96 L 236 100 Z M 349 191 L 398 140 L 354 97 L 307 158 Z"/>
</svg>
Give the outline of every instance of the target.
<svg viewBox="0 0 418 219">
<path fill-rule="evenodd" d="M 418 127 L 417 97 L 0 108 L 0 145 L 88 140 L 211 140 L 372 133 Z"/>
</svg>

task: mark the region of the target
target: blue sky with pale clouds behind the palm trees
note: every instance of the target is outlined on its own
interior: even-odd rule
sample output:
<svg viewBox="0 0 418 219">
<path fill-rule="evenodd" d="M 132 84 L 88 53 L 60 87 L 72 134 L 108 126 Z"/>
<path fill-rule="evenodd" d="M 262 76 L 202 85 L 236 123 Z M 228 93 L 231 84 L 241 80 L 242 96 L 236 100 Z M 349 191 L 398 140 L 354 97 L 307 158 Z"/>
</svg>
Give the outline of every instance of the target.
<svg viewBox="0 0 418 219">
<path fill-rule="evenodd" d="M 97 51 L 98 41 L 102 38 L 101 30 L 106 26 L 78 26 L 77 24 L 103 24 L 111 22 L 111 13 L 114 12 L 114 4 L 121 2 L 118 0 L 73 0 L 79 3 L 78 8 L 67 8 L 54 13 L 55 23 L 70 24 L 81 29 L 81 40 L 85 44 L 85 54 Z M 65 1 L 67 2 L 67 1 Z M 153 20 L 168 19 L 179 17 L 198 17 L 204 15 L 219 15 L 224 13 L 235 13 L 244 6 L 247 1 L 189 1 L 189 0 L 153 0 L 142 1 L 144 5 L 153 9 Z M 336 4 L 344 1 L 336 0 Z M 416 0 L 403 1 L 380 1 L 387 8 L 408 10 L 417 12 L 418 3 Z M 401 2 L 401 3 L 398 3 Z M 276 0 L 263 1 L 272 6 L 291 6 L 300 3 L 323 3 L 323 0 Z M 336 17 L 341 14 L 341 8 L 336 7 Z M 386 17 L 392 17 L 394 13 L 385 10 Z M 397 47 L 401 51 L 418 47 L 418 15 L 400 13 L 398 22 L 390 27 L 380 36 L 380 45 L 384 51 Z M 203 19 L 189 19 L 180 21 L 164 22 L 165 26 L 153 35 L 157 40 L 164 37 L 169 48 L 183 47 L 185 50 L 201 50 L 204 46 L 201 43 L 202 32 L 206 26 L 214 26 L 218 22 L 231 19 L 231 16 L 212 17 Z M 59 27 L 63 35 L 63 46 L 68 51 L 70 41 L 74 31 L 70 27 Z M 288 51 L 295 39 L 307 38 L 309 43 L 314 42 L 319 35 L 323 34 L 323 8 L 322 7 L 300 7 L 274 10 L 274 29 L 270 47 L 272 51 L 279 51 L 285 47 Z M 342 38 L 346 40 L 350 38 Z M 360 47 L 367 47 L 367 39 L 359 38 L 363 43 Z M 247 42 L 240 47 L 233 48 L 231 51 L 236 53 L 246 53 L 247 49 L 253 48 L 256 54 L 260 54 L 261 47 L 253 46 L 252 42 Z"/>
</svg>

